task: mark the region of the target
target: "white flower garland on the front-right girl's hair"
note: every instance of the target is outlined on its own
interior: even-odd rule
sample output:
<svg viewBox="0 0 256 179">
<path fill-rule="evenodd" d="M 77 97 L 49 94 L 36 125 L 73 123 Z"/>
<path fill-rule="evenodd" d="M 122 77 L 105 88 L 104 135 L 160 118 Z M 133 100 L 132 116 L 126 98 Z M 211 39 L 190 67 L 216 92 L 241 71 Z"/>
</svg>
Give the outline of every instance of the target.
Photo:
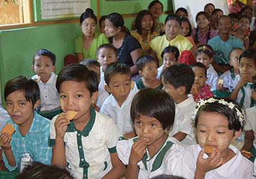
<svg viewBox="0 0 256 179">
<path fill-rule="evenodd" d="M 237 107 L 234 107 L 234 104 L 232 102 L 228 103 L 224 99 L 218 100 L 215 98 L 209 98 L 208 100 L 200 99 L 199 103 L 197 103 L 197 105 L 196 105 L 196 109 L 194 109 L 193 116 L 191 117 L 192 121 L 194 122 L 196 120 L 196 114 L 200 107 L 205 106 L 206 103 L 214 103 L 215 101 L 218 101 L 218 103 L 220 103 L 220 104 L 227 105 L 230 109 L 236 110 L 236 115 L 239 118 L 239 122 L 240 122 L 241 126 L 243 126 L 245 124 L 245 119 L 243 118 L 243 114 L 240 112 L 239 109 L 237 109 Z"/>
</svg>

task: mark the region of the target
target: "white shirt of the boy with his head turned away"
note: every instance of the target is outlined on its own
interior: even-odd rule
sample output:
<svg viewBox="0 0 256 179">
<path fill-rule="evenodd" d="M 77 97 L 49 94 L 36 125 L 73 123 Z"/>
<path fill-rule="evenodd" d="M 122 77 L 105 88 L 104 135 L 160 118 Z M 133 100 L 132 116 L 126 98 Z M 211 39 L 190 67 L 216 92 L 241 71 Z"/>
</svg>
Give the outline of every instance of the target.
<svg viewBox="0 0 256 179">
<path fill-rule="evenodd" d="M 175 119 L 173 125 L 169 129 L 169 135 L 173 136 L 178 132 L 187 134 L 181 143 L 184 146 L 191 146 L 197 144 L 196 141 L 196 129 L 191 121 L 193 111 L 196 108 L 196 102 L 194 101 L 193 95 L 182 101 L 179 104 L 175 104 Z"/>
</svg>

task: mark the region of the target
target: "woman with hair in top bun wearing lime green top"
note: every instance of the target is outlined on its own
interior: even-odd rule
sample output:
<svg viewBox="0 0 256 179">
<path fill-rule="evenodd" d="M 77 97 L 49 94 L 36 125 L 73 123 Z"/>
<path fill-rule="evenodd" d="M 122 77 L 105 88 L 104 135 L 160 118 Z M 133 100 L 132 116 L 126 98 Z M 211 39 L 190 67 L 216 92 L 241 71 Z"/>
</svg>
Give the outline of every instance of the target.
<svg viewBox="0 0 256 179">
<path fill-rule="evenodd" d="M 97 33 L 97 18 L 93 10 L 86 9 L 80 17 L 80 29 L 83 35 L 75 39 L 75 55 L 78 63 L 85 58 L 96 58 L 96 50 L 102 44 L 108 44 L 108 38 L 104 33 Z"/>
</svg>

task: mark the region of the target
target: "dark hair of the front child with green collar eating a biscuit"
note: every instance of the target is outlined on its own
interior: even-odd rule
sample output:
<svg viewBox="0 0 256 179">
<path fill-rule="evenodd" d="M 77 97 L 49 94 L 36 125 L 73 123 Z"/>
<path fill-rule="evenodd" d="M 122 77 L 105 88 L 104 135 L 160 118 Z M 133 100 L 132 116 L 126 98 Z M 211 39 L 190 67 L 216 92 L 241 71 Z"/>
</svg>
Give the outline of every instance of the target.
<svg viewBox="0 0 256 179">
<path fill-rule="evenodd" d="M 84 82 L 87 90 L 90 91 L 90 97 L 97 91 L 99 85 L 98 75 L 83 64 L 69 64 L 60 71 L 56 81 L 58 92 L 60 85 L 65 81 Z"/>
</svg>

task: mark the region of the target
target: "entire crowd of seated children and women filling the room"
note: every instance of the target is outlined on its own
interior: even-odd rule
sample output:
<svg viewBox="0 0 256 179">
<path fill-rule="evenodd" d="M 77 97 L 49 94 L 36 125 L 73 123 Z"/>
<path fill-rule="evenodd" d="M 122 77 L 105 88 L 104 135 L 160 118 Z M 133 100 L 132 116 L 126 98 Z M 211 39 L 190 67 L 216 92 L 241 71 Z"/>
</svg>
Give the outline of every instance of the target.
<svg viewBox="0 0 256 179">
<path fill-rule="evenodd" d="M 0 128 L 15 132 L 0 135 L 0 178 L 30 178 L 36 168 L 89 179 L 256 176 L 252 9 L 225 16 L 206 4 L 194 28 L 185 8 L 164 24 L 162 11 L 152 1 L 130 34 L 118 13 L 100 18 L 96 33 L 87 9 L 77 63 L 57 75 L 56 55 L 35 52 L 35 75 L 5 84 Z"/>
</svg>

